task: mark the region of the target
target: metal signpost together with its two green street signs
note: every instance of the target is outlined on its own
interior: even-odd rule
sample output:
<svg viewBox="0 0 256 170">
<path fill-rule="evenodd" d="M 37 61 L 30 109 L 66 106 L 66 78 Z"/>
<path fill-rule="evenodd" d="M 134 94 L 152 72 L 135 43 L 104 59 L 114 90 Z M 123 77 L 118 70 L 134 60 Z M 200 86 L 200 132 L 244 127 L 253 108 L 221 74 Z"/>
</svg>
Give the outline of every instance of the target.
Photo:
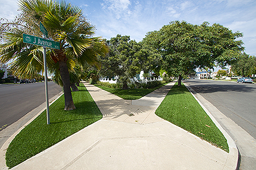
<svg viewBox="0 0 256 170">
<path fill-rule="evenodd" d="M 43 46 L 44 52 L 44 84 L 46 87 L 46 113 L 47 113 L 47 124 L 49 124 L 49 97 L 48 97 L 48 76 L 47 76 L 47 65 L 46 65 L 46 48 L 60 49 L 60 42 L 47 40 L 48 31 L 44 25 L 40 22 L 40 31 L 43 33 L 43 38 L 27 35 L 23 33 L 23 42 L 33 45 Z"/>
</svg>

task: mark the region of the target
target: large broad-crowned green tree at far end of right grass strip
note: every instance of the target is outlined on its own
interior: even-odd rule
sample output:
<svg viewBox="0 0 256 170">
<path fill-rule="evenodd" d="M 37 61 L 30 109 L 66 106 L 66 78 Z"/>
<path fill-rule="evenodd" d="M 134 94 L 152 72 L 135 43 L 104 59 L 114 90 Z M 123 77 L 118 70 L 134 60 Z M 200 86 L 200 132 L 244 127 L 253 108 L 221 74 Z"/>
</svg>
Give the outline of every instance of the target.
<svg viewBox="0 0 256 170">
<path fill-rule="evenodd" d="M 197 67 L 210 67 L 214 63 L 225 66 L 236 60 L 243 50 L 242 41 L 236 41 L 242 33 L 233 33 L 220 24 L 204 22 L 193 25 L 187 22 L 171 22 L 159 31 L 149 32 L 143 41 L 154 46 L 163 59 L 163 69 L 168 75 L 181 79 Z"/>
</svg>

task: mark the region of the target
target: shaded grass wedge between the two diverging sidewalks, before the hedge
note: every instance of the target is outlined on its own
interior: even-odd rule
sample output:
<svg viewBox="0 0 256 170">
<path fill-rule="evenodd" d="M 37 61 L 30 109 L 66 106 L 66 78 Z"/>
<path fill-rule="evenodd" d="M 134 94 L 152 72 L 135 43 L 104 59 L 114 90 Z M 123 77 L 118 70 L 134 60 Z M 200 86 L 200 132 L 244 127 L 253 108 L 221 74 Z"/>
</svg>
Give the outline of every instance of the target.
<svg viewBox="0 0 256 170">
<path fill-rule="evenodd" d="M 117 95 L 125 100 L 137 100 L 147 94 L 150 94 L 152 91 L 155 91 L 156 89 L 165 86 L 166 84 L 168 83 L 165 83 L 155 88 L 129 88 L 128 90 L 122 90 L 121 88 L 109 88 L 109 87 L 100 86 L 98 84 L 94 84 L 94 86 L 97 86 L 102 90 L 105 90 L 114 95 Z"/>
</svg>

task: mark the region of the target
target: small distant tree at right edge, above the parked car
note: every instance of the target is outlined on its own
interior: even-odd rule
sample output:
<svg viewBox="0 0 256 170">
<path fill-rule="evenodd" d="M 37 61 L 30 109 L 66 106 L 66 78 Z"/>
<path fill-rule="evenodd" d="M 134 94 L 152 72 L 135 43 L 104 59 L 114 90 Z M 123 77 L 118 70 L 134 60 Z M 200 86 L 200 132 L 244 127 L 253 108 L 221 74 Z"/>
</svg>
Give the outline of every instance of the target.
<svg viewBox="0 0 256 170">
<path fill-rule="evenodd" d="M 236 60 L 236 63 L 231 65 L 232 71 L 236 75 L 249 76 L 255 74 L 256 57 L 243 53 Z"/>
</svg>

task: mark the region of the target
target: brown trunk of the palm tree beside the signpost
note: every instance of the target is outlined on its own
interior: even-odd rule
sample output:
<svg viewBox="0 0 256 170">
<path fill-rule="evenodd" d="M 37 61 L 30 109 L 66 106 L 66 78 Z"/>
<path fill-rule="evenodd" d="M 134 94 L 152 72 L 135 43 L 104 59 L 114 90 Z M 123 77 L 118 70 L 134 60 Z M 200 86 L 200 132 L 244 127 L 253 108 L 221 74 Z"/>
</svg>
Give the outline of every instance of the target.
<svg viewBox="0 0 256 170">
<path fill-rule="evenodd" d="M 59 67 L 60 67 L 60 76 L 61 80 L 63 82 L 63 90 L 64 90 L 64 98 L 65 98 L 65 111 L 71 111 L 73 109 L 76 109 L 72 94 L 71 94 L 71 88 L 69 83 L 69 73 L 68 73 L 68 66 L 66 61 L 59 61 Z"/>
</svg>

